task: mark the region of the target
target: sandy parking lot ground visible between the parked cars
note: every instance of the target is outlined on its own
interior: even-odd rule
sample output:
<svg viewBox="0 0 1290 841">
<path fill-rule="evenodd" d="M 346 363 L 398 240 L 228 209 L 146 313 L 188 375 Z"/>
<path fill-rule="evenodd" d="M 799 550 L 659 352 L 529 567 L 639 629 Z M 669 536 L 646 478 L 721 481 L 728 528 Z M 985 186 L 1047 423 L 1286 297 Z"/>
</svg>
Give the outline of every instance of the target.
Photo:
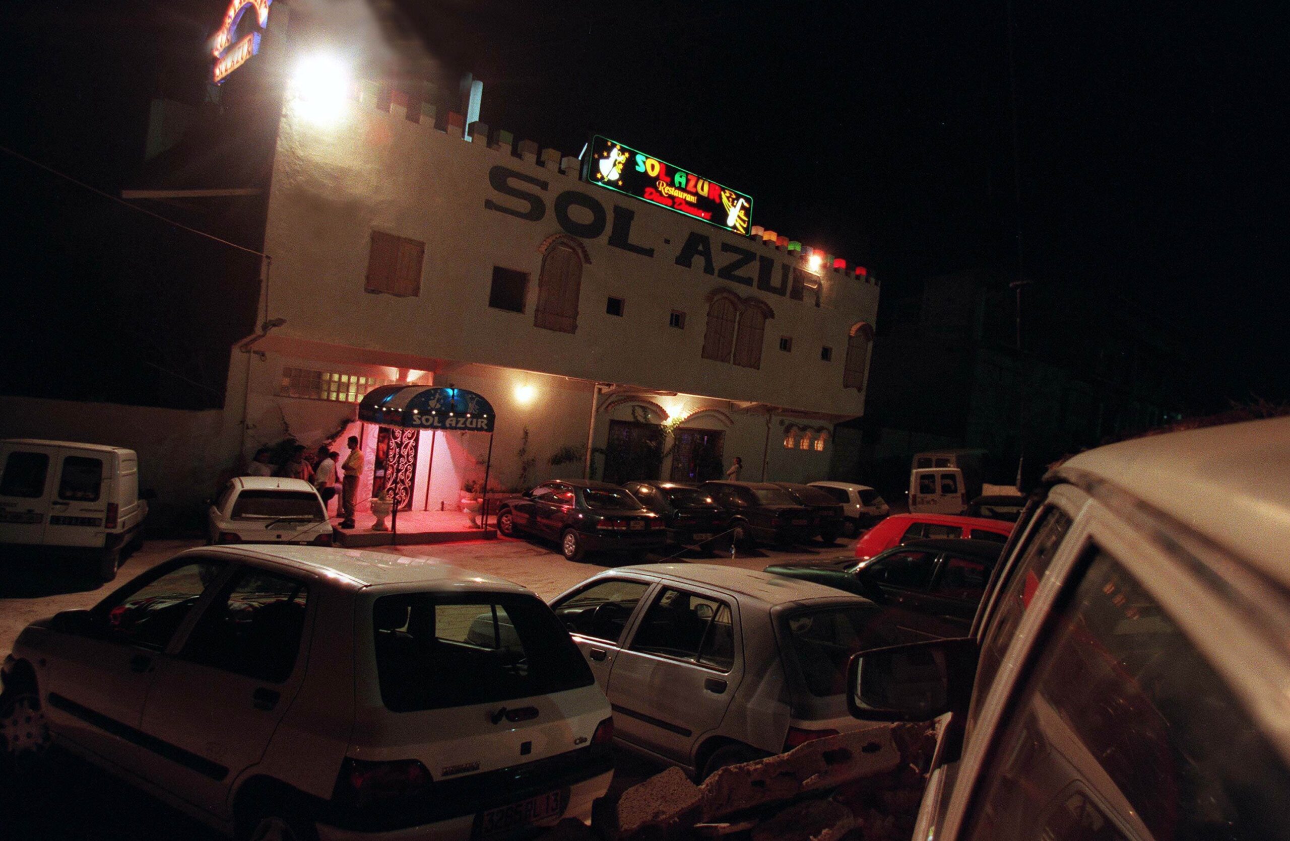
<svg viewBox="0 0 1290 841">
<path fill-rule="evenodd" d="M 0 657 L 9 653 L 14 637 L 32 619 L 59 610 L 89 608 L 114 588 L 169 559 L 199 546 L 196 540 L 151 540 L 132 556 L 116 582 L 99 588 L 76 584 L 75 575 L 59 566 L 44 570 L 0 569 Z M 838 542 L 796 547 L 792 551 L 755 549 L 730 559 L 685 552 L 672 561 L 721 564 L 761 569 L 777 561 L 849 555 L 853 543 Z M 475 540 L 433 546 L 400 546 L 372 549 L 409 557 L 433 559 L 464 569 L 507 578 L 551 599 L 584 578 L 606 569 L 613 557 L 588 556 L 582 562 L 564 560 L 553 543 L 541 540 Z M 651 556 L 650 562 L 664 560 Z M 632 757 L 620 757 L 615 787 L 630 784 L 654 769 Z M 19 788 L 0 789 L 0 836 L 41 841 L 133 841 L 155 838 L 215 838 L 204 826 L 129 784 L 80 762 L 58 762 L 43 779 Z"/>
</svg>

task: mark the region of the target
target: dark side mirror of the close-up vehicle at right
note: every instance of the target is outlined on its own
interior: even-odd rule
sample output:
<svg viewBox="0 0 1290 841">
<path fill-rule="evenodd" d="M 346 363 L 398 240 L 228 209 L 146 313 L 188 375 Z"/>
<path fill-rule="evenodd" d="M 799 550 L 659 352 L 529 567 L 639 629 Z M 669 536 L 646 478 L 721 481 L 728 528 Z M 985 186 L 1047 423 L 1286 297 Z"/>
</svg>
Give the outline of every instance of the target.
<svg viewBox="0 0 1290 841">
<path fill-rule="evenodd" d="M 855 718 L 930 721 L 968 712 L 977 642 L 929 640 L 860 651 L 846 668 L 846 708 Z"/>
</svg>

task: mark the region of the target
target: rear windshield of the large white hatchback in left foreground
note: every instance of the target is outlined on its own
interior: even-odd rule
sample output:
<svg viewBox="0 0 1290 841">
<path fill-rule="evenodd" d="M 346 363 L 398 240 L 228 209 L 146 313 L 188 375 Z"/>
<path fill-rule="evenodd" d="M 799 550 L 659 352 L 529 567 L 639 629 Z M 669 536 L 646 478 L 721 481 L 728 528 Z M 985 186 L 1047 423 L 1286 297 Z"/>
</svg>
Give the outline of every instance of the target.
<svg viewBox="0 0 1290 841">
<path fill-rule="evenodd" d="M 490 704 L 591 686 L 569 632 L 533 596 L 405 593 L 372 609 L 392 712 Z"/>
</svg>

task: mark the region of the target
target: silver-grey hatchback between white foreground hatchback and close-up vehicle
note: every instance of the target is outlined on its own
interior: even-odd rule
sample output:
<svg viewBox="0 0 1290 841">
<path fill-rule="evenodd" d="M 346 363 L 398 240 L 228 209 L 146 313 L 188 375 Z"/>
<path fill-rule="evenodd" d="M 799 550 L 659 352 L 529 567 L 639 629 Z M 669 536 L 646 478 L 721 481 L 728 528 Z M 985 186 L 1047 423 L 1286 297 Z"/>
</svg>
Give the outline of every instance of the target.
<svg viewBox="0 0 1290 841">
<path fill-rule="evenodd" d="M 614 739 L 697 779 L 858 729 L 848 660 L 907 638 L 859 596 L 706 564 L 608 570 L 552 608 L 609 697 Z"/>
</svg>

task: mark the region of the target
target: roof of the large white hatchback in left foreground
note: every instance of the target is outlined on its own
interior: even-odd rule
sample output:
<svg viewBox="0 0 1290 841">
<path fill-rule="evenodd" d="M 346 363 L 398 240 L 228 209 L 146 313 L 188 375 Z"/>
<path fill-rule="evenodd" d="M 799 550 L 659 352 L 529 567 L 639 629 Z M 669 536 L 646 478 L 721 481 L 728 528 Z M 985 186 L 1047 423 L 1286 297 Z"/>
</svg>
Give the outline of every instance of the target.
<svg viewBox="0 0 1290 841">
<path fill-rule="evenodd" d="M 381 584 L 418 584 L 421 589 L 530 593 L 504 578 L 476 573 L 431 557 L 409 557 L 366 549 L 324 546 L 240 544 L 208 546 L 183 555 L 218 555 L 230 560 L 255 559 L 321 575 L 342 589 Z"/>
</svg>

